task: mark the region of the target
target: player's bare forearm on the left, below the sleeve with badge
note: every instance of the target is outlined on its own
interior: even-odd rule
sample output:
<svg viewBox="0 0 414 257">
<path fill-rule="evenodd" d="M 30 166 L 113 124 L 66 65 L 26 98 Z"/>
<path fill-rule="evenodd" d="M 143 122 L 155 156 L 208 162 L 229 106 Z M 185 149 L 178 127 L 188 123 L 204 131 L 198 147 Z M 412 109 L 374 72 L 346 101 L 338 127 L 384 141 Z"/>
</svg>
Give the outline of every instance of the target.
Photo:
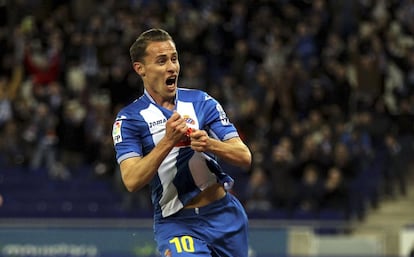
<svg viewBox="0 0 414 257">
<path fill-rule="evenodd" d="M 128 191 L 134 192 L 147 185 L 173 146 L 161 140 L 157 146 L 143 158 L 130 158 L 120 165 L 122 180 Z"/>
</svg>

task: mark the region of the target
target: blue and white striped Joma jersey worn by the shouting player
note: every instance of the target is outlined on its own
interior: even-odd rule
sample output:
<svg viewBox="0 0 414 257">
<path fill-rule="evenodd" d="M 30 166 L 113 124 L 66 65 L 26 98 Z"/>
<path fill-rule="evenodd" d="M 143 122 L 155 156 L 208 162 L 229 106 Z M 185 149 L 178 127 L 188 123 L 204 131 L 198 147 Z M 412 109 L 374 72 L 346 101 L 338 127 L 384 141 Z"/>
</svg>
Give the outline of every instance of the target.
<svg viewBox="0 0 414 257">
<path fill-rule="evenodd" d="M 227 140 L 239 136 L 221 105 L 203 91 L 178 88 L 175 108 L 188 127 L 206 130 L 210 137 Z M 172 113 L 156 104 L 147 92 L 123 108 L 112 131 L 118 163 L 148 154 L 164 136 Z M 189 143 L 175 146 L 150 182 L 155 219 L 176 213 L 217 181 L 232 183 L 211 153 L 195 152 Z"/>
</svg>

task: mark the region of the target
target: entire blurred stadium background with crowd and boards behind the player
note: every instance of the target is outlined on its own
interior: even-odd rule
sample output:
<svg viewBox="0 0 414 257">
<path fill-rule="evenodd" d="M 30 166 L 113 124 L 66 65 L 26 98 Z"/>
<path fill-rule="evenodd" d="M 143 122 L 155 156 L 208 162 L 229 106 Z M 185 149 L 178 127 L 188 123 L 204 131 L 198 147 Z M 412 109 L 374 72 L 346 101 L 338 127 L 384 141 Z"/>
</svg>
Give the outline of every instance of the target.
<svg viewBox="0 0 414 257">
<path fill-rule="evenodd" d="M 251 256 L 414 256 L 413 17 L 412 0 L 0 0 L 0 254 L 61 256 L 79 233 L 92 246 L 63 256 L 156 254 L 111 129 L 143 92 L 129 47 L 159 27 L 179 84 L 252 150 L 247 172 L 223 164 Z"/>
</svg>

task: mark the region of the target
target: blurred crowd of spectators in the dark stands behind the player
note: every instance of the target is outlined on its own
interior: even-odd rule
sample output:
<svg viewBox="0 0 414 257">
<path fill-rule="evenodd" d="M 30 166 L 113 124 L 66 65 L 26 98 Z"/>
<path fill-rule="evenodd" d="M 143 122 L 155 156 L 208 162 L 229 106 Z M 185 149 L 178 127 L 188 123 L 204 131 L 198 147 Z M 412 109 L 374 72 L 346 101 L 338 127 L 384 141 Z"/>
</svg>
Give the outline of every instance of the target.
<svg viewBox="0 0 414 257">
<path fill-rule="evenodd" d="M 248 211 L 348 212 L 370 169 L 379 195 L 405 193 L 412 0 L 2 1 L 0 17 L 3 166 L 117 177 L 112 123 L 143 91 L 129 47 L 160 27 L 179 84 L 218 99 L 253 152 L 234 192 Z"/>
</svg>

